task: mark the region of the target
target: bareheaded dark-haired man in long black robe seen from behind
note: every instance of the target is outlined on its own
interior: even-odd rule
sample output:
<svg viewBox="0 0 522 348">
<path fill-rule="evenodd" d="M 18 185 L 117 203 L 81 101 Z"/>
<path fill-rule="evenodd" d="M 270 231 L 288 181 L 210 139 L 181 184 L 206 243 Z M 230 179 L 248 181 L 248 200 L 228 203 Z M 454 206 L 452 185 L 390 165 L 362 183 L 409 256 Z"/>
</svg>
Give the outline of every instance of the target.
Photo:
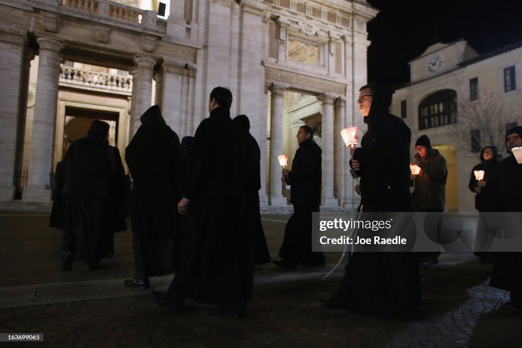
<svg viewBox="0 0 522 348">
<path fill-rule="evenodd" d="M 245 226 L 247 138 L 230 118 L 232 93 L 210 93 L 210 117 L 199 124 L 189 156 L 184 198 L 188 214 L 182 260 L 167 293 L 153 301 L 180 311 L 184 299 L 218 304 L 209 313 L 243 317 L 252 298 L 254 260 Z"/>
</svg>

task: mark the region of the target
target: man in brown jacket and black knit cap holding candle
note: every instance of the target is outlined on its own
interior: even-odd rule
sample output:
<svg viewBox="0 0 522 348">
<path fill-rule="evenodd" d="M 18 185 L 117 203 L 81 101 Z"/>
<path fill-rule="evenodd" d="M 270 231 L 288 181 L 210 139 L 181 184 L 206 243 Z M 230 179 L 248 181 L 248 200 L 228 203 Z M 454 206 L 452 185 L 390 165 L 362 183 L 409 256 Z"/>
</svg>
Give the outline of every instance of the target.
<svg viewBox="0 0 522 348">
<path fill-rule="evenodd" d="M 446 159 L 437 150 L 432 148 L 430 138 L 422 135 L 415 142 L 417 153 L 414 155 L 416 164 L 420 167 L 417 175 L 411 174 L 410 185 L 414 186 L 411 197 L 417 211 L 443 212 L 446 204 L 446 181 L 448 170 Z M 438 219 L 441 222 L 441 219 Z M 421 265 L 430 267 L 438 263 L 440 252 L 421 253 Z"/>
</svg>

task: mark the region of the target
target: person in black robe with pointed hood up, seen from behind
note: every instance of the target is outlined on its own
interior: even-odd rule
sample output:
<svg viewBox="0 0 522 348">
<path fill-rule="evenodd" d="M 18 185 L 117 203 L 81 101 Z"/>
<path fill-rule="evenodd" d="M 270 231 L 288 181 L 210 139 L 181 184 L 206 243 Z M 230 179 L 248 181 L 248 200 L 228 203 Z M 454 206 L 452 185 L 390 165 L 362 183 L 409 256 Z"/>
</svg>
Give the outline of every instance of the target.
<svg viewBox="0 0 522 348">
<path fill-rule="evenodd" d="M 177 266 L 182 161 L 180 139 L 165 123 L 158 105 L 151 106 L 140 121 L 125 150 L 134 183 L 131 221 L 135 274 L 124 284 L 147 289 L 149 277 L 168 274 Z"/>
</svg>

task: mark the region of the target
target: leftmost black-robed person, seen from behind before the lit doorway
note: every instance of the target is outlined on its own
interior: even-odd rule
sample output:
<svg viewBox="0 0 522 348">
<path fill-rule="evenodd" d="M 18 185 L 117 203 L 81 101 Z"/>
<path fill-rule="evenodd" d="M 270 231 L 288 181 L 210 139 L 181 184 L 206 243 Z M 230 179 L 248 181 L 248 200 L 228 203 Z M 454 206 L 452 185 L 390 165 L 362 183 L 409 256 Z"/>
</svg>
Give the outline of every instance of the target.
<svg viewBox="0 0 522 348">
<path fill-rule="evenodd" d="M 74 141 L 63 159 L 64 271 L 72 270 L 74 255 L 86 260 L 88 269 L 99 268 L 100 258 L 114 253 L 114 232 L 126 230 L 125 172 L 108 136 L 108 123 L 92 122 L 87 137 Z"/>
</svg>

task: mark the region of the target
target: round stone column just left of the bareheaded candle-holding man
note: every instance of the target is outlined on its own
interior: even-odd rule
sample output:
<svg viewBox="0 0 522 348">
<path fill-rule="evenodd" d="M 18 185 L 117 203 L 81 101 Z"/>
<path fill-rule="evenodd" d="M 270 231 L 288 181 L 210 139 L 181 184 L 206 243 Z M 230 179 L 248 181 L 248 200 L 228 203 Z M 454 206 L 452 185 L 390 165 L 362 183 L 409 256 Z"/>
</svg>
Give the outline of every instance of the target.
<svg viewBox="0 0 522 348">
<path fill-rule="evenodd" d="M 283 93 L 284 87 L 272 85 L 269 87 L 272 93 L 270 107 L 270 190 L 268 201 L 271 206 L 286 206 L 287 199 L 282 195 L 281 166 L 277 159 L 283 153 Z"/>
</svg>

